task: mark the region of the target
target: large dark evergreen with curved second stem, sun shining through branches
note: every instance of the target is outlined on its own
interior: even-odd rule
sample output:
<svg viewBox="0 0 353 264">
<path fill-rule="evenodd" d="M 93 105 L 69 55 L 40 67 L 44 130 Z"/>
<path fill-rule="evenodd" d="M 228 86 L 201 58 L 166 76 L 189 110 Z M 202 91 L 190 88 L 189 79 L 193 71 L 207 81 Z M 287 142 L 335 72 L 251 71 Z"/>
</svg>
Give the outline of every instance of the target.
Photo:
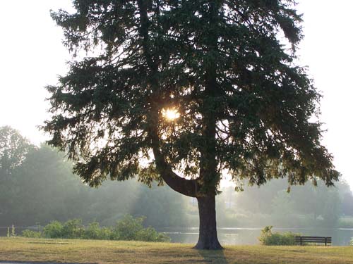
<svg viewBox="0 0 353 264">
<path fill-rule="evenodd" d="M 220 249 L 222 172 L 258 185 L 273 177 L 337 180 L 312 118 L 320 94 L 294 64 L 302 37 L 294 0 L 73 5 L 76 13 L 52 17 L 64 44 L 84 58 L 48 87 L 53 116 L 45 130 L 91 186 L 137 175 L 196 197 L 196 248 Z"/>
</svg>

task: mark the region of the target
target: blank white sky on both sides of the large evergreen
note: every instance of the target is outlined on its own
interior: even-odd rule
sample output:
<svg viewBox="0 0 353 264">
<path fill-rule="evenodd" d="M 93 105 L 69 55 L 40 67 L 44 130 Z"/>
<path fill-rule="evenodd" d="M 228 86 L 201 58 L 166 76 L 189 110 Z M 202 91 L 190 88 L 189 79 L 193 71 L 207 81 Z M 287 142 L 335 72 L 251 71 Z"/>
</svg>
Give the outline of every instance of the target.
<svg viewBox="0 0 353 264">
<path fill-rule="evenodd" d="M 70 7 L 70 0 L 1 1 L 0 126 L 20 130 L 35 144 L 45 140 L 37 130 L 48 116 L 43 87 L 56 84 L 56 76 L 64 75 L 70 59 L 49 10 Z M 349 0 L 299 1 L 306 36 L 299 54 L 324 96 L 321 121 L 328 132 L 323 143 L 353 189 L 352 9 Z"/>
</svg>

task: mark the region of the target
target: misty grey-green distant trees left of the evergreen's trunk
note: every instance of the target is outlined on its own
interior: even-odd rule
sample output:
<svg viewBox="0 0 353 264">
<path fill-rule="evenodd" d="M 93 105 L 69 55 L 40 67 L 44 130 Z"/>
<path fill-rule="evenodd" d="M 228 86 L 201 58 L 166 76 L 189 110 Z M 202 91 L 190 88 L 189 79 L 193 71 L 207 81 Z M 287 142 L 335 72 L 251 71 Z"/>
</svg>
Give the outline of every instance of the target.
<svg viewBox="0 0 353 264">
<path fill-rule="evenodd" d="M 178 226 L 186 201 L 167 187 L 149 191 L 136 181 L 83 184 L 62 153 L 33 146 L 11 127 L 0 127 L 0 226 L 41 225 L 80 218 L 114 225 L 123 215 L 145 215 L 145 225 Z"/>
</svg>

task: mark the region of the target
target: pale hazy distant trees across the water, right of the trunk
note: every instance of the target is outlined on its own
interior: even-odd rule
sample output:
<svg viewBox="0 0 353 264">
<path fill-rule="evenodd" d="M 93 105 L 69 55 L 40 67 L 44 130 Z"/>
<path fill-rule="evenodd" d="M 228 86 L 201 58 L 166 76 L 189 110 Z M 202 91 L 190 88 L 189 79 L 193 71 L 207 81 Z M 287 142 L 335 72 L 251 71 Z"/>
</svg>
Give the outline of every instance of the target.
<svg viewBox="0 0 353 264">
<path fill-rule="evenodd" d="M 229 219 L 241 226 L 276 227 L 352 227 L 353 195 L 345 181 L 326 187 L 305 184 L 291 187 L 286 180 L 273 180 L 265 187 L 246 187 L 235 193 L 224 189 L 218 201 L 224 205 L 226 225 Z M 228 219 L 228 220 L 227 220 Z"/>
</svg>

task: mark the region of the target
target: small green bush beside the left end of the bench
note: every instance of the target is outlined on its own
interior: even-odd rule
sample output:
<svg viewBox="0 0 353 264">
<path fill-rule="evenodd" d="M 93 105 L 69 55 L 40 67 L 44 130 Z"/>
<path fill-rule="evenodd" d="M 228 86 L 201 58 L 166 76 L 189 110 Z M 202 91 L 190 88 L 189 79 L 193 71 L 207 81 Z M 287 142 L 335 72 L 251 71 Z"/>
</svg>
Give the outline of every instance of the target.
<svg viewBox="0 0 353 264">
<path fill-rule="evenodd" d="M 292 246 L 295 245 L 295 237 L 299 234 L 292 232 L 272 232 L 273 226 L 265 227 L 261 230 L 261 236 L 258 238 L 261 244 L 265 246 Z"/>
</svg>

